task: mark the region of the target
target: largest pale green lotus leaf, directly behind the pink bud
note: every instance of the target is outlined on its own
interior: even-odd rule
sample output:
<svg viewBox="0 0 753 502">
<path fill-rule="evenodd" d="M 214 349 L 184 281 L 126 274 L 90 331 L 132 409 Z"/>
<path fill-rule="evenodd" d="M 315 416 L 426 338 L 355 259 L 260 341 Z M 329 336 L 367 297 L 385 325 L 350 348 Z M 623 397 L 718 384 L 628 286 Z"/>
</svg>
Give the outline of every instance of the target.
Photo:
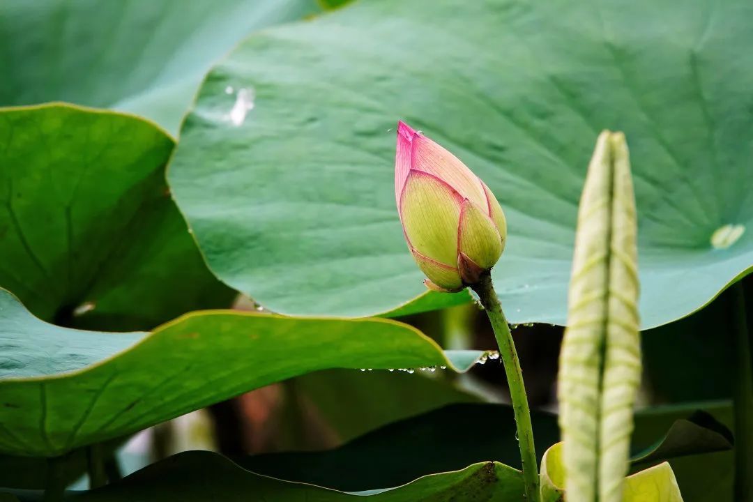
<svg viewBox="0 0 753 502">
<path fill-rule="evenodd" d="M 753 264 L 751 22 L 743 0 L 357 2 L 217 65 L 169 181 L 227 284 L 277 312 L 386 312 L 423 291 L 392 193 L 402 118 L 505 208 L 494 277 L 511 321 L 564 323 L 587 163 L 601 129 L 621 130 L 641 318 L 663 324 Z"/>
</svg>

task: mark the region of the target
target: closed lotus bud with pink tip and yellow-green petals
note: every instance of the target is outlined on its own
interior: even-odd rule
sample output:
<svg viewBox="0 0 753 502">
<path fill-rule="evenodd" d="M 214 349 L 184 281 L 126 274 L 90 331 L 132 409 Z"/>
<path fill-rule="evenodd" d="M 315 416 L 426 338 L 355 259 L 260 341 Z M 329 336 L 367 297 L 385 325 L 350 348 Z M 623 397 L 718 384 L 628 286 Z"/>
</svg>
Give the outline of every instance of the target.
<svg viewBox="0 0 753 502">
<path fill-rule="evenodd" d="M 475 284 L 505 249 L 505 213 L 449 151 L 398 123 L 395 197 L 408 248 L 434 291 Z"/>
</svg>

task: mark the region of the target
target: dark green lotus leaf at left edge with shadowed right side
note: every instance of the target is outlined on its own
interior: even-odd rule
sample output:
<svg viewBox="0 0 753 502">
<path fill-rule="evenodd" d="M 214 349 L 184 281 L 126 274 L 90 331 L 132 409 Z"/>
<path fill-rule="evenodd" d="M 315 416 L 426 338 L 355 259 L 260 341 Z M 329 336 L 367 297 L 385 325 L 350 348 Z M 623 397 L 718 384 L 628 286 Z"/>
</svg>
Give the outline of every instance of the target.
<svg viewBox="0 0 753 502">
<path fill-rule="evenodd" d="M 0 109 L 0 286 L 79 327 L 149 329 L 229 305 L 166 188 L 172 145 L 115 112 Z"/>
</svg>

